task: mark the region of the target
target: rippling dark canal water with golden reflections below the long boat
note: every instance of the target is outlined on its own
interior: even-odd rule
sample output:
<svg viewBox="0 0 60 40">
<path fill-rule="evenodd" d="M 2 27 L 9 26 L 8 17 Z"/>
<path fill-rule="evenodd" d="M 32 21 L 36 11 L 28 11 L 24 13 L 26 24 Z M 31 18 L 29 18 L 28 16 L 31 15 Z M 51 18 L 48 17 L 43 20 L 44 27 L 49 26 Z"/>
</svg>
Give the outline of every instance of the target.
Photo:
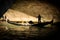
<svg viewBox="0 0 60 40">
<path fill-rule="evenodd" d="M 2 24 L 2 25 L 1 25 Z M 39 26 L 18 26 L 2 22 L 0 24 L 0 39 L 40 39 L 53 36 L 57 28 L 55 25 L 45 25 L 44 28 Z"/>
</svg>

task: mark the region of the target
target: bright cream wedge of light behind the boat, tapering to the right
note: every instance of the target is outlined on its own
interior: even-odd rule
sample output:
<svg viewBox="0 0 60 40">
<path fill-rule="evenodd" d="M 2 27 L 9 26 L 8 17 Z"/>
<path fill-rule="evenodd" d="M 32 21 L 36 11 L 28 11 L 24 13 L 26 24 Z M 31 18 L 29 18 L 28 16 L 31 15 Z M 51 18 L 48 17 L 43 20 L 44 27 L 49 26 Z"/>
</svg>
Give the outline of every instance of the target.
<svg viewBox="0 0 60 40">
<path fill-rule="evenodd" d="M 38 18 L 35 18 L 33 16 L 27 15 L 23 12 L 19 12 L 16 10 L 9 9 L 5 14 L 4 14 L 10 21 L 34 21 L 38 22 Z M 47 20 L 47 19 L 45 19 Z M 41 22 L 45 22 L 43 18 L 41 18 Z"/>
</svg>

